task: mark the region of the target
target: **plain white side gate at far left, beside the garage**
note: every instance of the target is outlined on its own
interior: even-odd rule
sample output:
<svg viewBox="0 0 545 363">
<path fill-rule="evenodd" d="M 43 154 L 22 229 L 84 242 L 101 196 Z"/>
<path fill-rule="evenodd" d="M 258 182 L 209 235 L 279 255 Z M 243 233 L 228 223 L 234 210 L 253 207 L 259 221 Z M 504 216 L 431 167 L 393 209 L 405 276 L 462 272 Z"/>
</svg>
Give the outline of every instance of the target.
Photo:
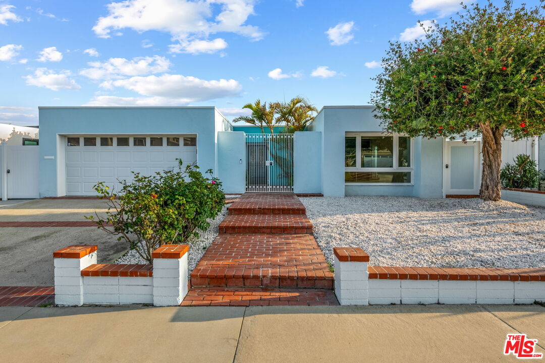
<svg viewBox="0 0 545 363">
<path fill-rule="evenodd" d="M 39 198 L 38 151 L 35 145 L 4 146 L 8 199 Z"/>
</svg>

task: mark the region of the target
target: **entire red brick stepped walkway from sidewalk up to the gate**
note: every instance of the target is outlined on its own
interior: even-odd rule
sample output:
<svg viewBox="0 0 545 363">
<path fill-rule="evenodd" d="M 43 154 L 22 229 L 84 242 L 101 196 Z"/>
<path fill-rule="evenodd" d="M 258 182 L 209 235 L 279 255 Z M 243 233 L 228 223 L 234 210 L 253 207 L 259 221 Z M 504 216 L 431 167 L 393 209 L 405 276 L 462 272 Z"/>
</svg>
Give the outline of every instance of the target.
<svg viewBox="0 0 545 363">
<path fill-rule="evenodd" d="M 183 305 L 337 304 L 333 274 L 311 233 L 293 194 L 240 196 L 193 270 Z"/>
</svg>

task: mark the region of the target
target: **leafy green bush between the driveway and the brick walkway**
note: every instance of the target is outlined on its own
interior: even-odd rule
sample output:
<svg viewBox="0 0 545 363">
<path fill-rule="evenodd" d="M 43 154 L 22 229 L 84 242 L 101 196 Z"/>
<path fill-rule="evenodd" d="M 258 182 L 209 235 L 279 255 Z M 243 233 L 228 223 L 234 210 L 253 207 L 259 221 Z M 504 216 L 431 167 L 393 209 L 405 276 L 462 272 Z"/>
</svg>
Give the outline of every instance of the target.
<svg viewBox="0 0 545 363">
<path fill-rule="evenodd" d="M 210 226 L 207 219 L 216 218 L 225 205 L 219 179 L 205 177 L 196 165 L 166 170 L 152 176 L 133 173 L 132 182 L 122 181 L 119 193 L 104 183 L 94 189 L 108 203 L 105 217 L 88 216 L 99 229 L 129 242 L 130 248 L 148 262 L 161 244 L 191 243 L 199 230 Z"/>
</svg>

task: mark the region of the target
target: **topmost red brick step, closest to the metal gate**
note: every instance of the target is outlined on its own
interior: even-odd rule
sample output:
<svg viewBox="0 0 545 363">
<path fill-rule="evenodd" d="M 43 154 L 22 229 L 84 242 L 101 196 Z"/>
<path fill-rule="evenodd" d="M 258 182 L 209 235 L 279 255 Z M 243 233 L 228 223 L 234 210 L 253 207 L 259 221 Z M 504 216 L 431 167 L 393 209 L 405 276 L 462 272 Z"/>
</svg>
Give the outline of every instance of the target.
<svg viewBox="0 0 545 363">
<path fill-rule="evenodd" d="M 229 206 L 229 214 L 305 214 L 305 206 L 294 194 L 246 193 Z"/>
</svg>

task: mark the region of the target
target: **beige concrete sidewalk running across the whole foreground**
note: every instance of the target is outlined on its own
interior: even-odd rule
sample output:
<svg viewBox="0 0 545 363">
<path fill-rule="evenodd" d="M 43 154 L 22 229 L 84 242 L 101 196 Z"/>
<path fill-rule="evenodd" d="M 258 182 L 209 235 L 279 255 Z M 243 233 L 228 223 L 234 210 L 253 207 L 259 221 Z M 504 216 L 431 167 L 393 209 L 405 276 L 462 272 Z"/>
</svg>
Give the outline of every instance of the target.
<svg viewBox="0 0 545 363">
<path fill-rule="evenodd" d="M 538 339 L 545 307 L 0 307 L 12 362 L 492 362 Z"/>
</svg>

